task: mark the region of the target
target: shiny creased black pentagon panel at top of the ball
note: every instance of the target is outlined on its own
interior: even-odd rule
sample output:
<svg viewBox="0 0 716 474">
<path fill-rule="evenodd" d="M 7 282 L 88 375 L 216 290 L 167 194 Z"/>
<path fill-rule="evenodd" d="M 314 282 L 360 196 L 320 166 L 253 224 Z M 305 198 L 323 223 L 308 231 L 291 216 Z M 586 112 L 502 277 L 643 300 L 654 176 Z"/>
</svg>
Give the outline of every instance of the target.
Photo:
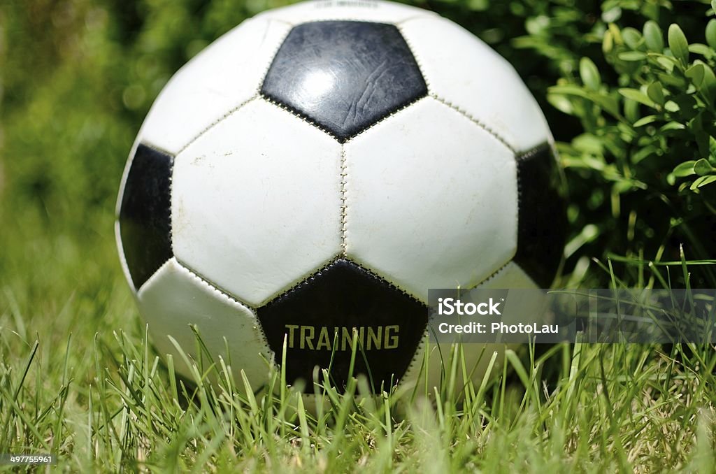
<svg viewBox="0 0 716 474">
<path fill-rule="evenodd" d="M 291 30 L 261 94 L 344 142 L 426 95 L 427 85 L 395 26 L 316 21 Z"/>
</svg>

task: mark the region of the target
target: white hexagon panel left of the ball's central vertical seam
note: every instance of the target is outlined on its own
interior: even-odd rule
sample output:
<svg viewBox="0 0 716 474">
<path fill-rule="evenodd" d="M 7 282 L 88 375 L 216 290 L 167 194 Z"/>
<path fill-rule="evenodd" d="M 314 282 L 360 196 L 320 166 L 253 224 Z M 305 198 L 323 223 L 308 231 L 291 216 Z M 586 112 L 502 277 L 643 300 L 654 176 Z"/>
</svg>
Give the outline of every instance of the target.
<svg viewBox="0 0 716 474">
<path fill-rule="evenodd" d="M 341 147 L 261 99 L 174 160 L 177 260 L 259 306 L 341 251 Z"/>
</svg>

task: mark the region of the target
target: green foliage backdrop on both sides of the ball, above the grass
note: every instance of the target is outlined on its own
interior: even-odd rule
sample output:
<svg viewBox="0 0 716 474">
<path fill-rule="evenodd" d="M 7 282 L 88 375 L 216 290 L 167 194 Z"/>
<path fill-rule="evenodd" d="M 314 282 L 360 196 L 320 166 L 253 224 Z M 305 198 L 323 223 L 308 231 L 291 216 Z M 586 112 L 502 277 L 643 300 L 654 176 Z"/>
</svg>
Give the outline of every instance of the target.
<svg viewBox="0 0 716 474">
<path fill-rule="evenodd" d="M 6 292 L 43 301 L 62 285 L 96 300 L 120 281 L 113 209 L 148 108 L 193 55 L 246 17 L 285 3 L 0 0 Z M 543 107 L 571 193 L 564 284 L 608 284 L 591 258 L 606 266 L 605 257 L 614 257 L 629 284 L 648 283 L 644 261 L 679 261 L 682 245 L 687 259 L 713 258 L 716 23 L 709 4 L 412 3 L 497 49 Z M 686 33 L 687 57 L 671 51 L 678 39 L 667 34 L 671 24 Z M 700 178 L 708 179 L 694 183 Z M 709 266 L 692 268 L 694 286 L 716 286 Z M 672 284 L 685 284 L 683 276 Z"/>
</svg>

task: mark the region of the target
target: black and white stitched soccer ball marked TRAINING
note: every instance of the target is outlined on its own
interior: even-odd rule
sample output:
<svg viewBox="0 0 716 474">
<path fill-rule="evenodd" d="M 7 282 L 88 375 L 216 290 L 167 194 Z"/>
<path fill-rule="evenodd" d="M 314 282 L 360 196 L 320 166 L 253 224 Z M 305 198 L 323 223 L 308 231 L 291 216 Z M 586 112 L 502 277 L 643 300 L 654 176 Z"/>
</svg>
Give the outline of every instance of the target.
<svg viewBox="0 0 716 474">
<path fill-rule="evenodd" d="M 426 338 L 428 289 L 553 281 L 555 170 L 535 100 L 472 34 L 312 1 L 244 21 L 170 80 L 127 161 L 117 246 L 180 374 L 194 326 L 254 390 L 284 350 L 291 384 L 319 367 L 342 387 L 354 355 L 372 390 L 432 386 L 448 351 Z M 464 350 L 481 379 L 490 357 Z"/>
</svg>

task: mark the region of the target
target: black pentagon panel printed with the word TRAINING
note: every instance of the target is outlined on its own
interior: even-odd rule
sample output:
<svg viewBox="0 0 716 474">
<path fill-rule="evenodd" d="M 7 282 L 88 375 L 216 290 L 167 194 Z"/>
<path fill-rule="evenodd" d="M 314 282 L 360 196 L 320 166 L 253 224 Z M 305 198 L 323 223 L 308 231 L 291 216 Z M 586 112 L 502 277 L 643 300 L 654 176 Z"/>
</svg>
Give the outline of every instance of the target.
<svg viewBox="0 0 716 474">
<path fill-rule="evenodd" d="M 379 392 L 405 374 L 427 326 L 427 306 L 341 258 L 259 308 L 258 319 L 276 359 L 286 339 L 286 378 L 303 379 L 309 393 L 316 365 L 330 369 L 336 387 L 346 386 L 355 329 L 353 374 L 365 374 Z"/>
</svg>

